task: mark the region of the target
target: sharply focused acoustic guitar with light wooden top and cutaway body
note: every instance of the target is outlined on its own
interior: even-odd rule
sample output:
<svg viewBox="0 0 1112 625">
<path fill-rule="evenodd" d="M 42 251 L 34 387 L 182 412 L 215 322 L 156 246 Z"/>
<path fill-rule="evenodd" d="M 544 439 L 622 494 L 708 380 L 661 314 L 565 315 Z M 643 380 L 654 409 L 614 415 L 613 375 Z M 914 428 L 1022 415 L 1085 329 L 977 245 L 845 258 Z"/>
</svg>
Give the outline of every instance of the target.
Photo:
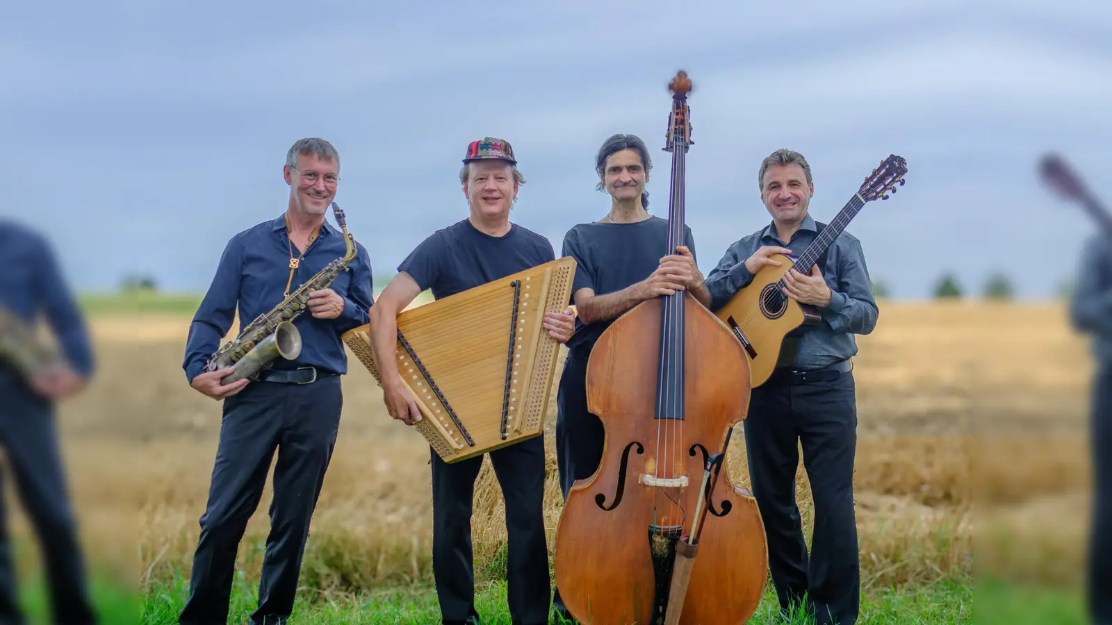
<svg viewBox="0 0 1112 625">
<path fill-rule="evenodd" d="M 801 274 L 810 274 L 818 259 L 825 258 L 831 244 L 848 226 L 850 220 L 866 204 L 875 199 L 888 199 L 887 192 L 896 192 L 897 182 L 903 186 L 906 172 L 907 161 L 903 157 L 892 155 L 884 159 L 798 259 L 773 255 L 771 258 L 780 261 L 778 267 L 762 267 L 748 286 L 714 311 L 749 356 L 752 388 L 767 381 L 776 367 L 790 365 L 795 359 L 800 338 L 822 321 L 816 307 L 784 295 L 781 290 L 784 287 L 784 274 L 793 267 Z"/>
</svg>

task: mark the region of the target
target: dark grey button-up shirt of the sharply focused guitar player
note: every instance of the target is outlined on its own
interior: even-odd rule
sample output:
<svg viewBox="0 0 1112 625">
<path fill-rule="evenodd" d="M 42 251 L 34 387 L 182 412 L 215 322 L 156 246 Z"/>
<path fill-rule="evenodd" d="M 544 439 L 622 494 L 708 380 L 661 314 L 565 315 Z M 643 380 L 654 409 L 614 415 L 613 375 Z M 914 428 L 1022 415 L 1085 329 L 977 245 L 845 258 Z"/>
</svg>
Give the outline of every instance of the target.
<svg viewBox="0 0 1112 625">
<path fill-rule="evenodd" d="M 711 310 L 725 306 L 739 289 L 753 281 L 745 260 L 758 248 L 786 247 L 792 250 L 793 257 L 798 258 L 816 236 L 815 220 L 807 215 L 791 241 L 780 240 L 775 222 L 735 241 L 706 277 Z M 794 363 L 798 369 L 818 369 L 856 355 L 854 335 L 872 333 L 880 316 L 861 241 L 850 232 L 842 231 L 831 244 L 823 277 L 833 295 L 830 305 L 818 309 L 822 323 L 800 339 Z"/>
</svg>

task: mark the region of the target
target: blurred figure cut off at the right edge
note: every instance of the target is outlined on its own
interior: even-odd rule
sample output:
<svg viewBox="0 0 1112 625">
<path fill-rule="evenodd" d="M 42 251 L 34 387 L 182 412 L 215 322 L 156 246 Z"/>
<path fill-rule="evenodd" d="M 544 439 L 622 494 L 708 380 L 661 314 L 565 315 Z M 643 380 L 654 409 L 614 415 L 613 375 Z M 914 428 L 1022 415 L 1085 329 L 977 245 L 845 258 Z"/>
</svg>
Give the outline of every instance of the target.
<svg viewBox="0 0 1112 625">
<path fill-rule="evenodd" d="M 1104 232 L 1085 245 L 1070 301 L 1070 319 L 1078 330 L 1092 336 L 1096 360 L 1090 425 L 1093 517 L 1088 608 L 1095 625 L 1112 625 L 1112 237 Z"/>
</svg>

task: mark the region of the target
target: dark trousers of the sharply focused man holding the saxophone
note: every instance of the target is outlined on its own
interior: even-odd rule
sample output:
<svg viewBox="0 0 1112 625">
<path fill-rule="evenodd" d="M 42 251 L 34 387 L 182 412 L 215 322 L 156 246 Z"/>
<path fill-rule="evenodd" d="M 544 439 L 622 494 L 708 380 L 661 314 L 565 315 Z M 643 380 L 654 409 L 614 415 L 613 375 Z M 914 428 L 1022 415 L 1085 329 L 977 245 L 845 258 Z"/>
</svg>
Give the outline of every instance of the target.
<svg viewBox="0 0 1112 625">
<path fill-rule="evenodd" d="M 252 381 L 224 400 L 189 601 L 179 623 L 227 623 L 236 553 L 262 497 L 276 449 L 270 534 L 262 558 L 259 605 L 251 621 L 271 625 L 289 617 L 309 520 L 331 460 L 342 404 L 339 376 L 306 385 Z"/>
</svg>

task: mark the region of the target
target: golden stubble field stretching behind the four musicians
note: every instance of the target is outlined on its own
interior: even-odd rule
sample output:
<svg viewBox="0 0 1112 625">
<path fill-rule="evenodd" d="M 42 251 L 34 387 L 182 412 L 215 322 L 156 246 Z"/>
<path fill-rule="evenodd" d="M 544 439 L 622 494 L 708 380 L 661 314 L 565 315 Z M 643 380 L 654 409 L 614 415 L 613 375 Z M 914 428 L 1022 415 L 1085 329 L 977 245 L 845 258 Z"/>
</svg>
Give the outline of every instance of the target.
<svg viewBox="0 0 1112 625">
<path fill-rule="evenodd" d="M 172 622 L 188 588 L 220 427 L 220 405 L 190 389 L 180 367 L 188 323 L 188 314 L 93 315 L 98 378 L 60 413 L 92 566 L 136 579 L 149 622 Z M 854 485 L 866 597 L 926 593 L 940 583 L 971 588 L 975 573 L 1076 587 L 1089 509 L 1092 364 L 1064 309 L 882 301 L 876 331 L 858 344 Z M 350 354 L 349 364 L 299 609 L 374 611 L 377 598 L 396 605 L 407 596 L 424 596 L 427 606 L 428 447 L 388 417 L 379 388 Z M 549 450 L 554 420 L 555 391 Z M 744 446 L 732 445 L 727 462 L 731 478 L 747 487 Z M 555 459 L 548 464 L 552 549 L 560 497 Z M 797 496 L 810 535 L 802 466 Z M 240 547 L 238 614 L 254 608 L 269 500 L 268 492 Z M 503 513 L 487 463 L 473 518 L 483 587 L 505 576 Z M 971 602 L 972 589 L 944 606 L 951 612 L 939 622 L 971 622 Z"/>
</svg>

